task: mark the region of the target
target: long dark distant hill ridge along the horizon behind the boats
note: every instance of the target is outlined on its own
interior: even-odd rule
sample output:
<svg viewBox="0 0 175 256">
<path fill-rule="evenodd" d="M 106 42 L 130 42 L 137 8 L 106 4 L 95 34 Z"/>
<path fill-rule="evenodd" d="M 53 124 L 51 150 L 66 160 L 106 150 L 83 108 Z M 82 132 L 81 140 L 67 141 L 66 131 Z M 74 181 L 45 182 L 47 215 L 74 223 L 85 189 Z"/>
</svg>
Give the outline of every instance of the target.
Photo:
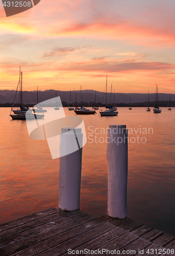
<svg viewBox="0 0 175 256">
<path fill-rule="evenodd" d="M 47 99 L 51 99 L 55 97 L 55 90 L 46 90 L 46 91 L 38 91 L 38 103 Z M 15 91 L 14 90 L 0 90 L 0 103 L 12 103 L 14 100 Z M 57 96 L 60 96 L 61 101 L 65 101 L 69 103 L 70 92 L 69 91 L 57 91 Z M 37 92 L 36 91 L 25 91 L 23 92 L 23 103 L 25 104 L 35 104 L 37 103 Z M 115 93 L 114 94 L 107 93 L 107 103 L 130 103 L 134 105 L 136 102 L 146 102 L 148 95 L 144 93 Z M 169 101 L 169 97 L 171 97 L 171 101 L 175 101 L 175 94 L 165 94 L 159 93 L 159 102 L 161 101 Z M 81 92 L 80 91 L 71 91 L 71 102 L 81 102 Z M 95 91 L 93 90 L 83 90 L 82 91 L 82 101 L 83 102 L 94 102 L 95 101 Z M 149 101 L 155 101 L 155 93 L 149 94 Z M 100 102 L 105 104 L 106 102 L 106 94 L 104 92 L 96 92 L 96 102 Z M 17 92 L 15 103 L 19 103 L 19 92 Z"/>
</svg>

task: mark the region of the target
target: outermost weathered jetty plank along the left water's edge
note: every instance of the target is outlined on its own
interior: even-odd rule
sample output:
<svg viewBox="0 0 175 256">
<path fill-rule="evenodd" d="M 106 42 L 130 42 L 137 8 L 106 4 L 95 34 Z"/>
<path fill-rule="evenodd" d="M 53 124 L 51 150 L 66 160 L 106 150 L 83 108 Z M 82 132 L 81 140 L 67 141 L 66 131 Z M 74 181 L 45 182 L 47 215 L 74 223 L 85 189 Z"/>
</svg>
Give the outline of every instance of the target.
<svg viewBox="0 0 175 256">
<path fill-rule="evenodd" d="M 31 214 L 31 215 L 28 215 L 28 216 L 25 216 L 25 217 L 22 217 L 22 218 L 19 218 L 19 219 L 16 219 L 16 220 L 12 220 L 12 221 L 0 224 L 0 232 L 3 232 L 3 231 L 5 231 L 7 229 L 10 229 L 10 228 L 14 228 L 14 227 L 23 225 L 25 223 L 28 223 L 28 222 L 31 222 L 31 221 L 34 221 L 34 220 L 38 220 L 38 219 L 43 218 L 47 215 L 55 214 L 56 212 L 59 212 L 59 211 L 60 211 L 59 209 L 56 209 L 55 207 L 52 207 L 52 208 L 48 208 L 46 210 L 35 212 L 34 214 Z"/>
</svg>

